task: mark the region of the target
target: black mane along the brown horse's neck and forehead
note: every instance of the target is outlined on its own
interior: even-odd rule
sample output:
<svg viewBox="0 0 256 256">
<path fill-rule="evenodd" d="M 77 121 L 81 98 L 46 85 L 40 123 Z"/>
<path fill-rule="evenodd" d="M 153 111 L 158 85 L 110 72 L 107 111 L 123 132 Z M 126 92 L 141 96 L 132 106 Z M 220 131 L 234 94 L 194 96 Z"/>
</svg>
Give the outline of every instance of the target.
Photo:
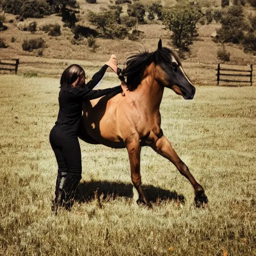
<svg viewBox="0 0 256 256">
<path fill-rule="evenodd" d="M 171 65 L 170 55 L 177 60 L 178 64 L 181 66 L 180 59 L 178 55 L 171 49 L 162 47 L 153 52 L 143 51 L 137 54 L 129 56 L 125 61 L 125 67 L 122 70 L 122 75 L 127 77 L 126 83 L 129 90 L 134 90 L 137 88 L 141 82 L 145 68 L 152 62 L 156 65 L 160 65 L 162 68 L 164 66 Z"/>
</svg>

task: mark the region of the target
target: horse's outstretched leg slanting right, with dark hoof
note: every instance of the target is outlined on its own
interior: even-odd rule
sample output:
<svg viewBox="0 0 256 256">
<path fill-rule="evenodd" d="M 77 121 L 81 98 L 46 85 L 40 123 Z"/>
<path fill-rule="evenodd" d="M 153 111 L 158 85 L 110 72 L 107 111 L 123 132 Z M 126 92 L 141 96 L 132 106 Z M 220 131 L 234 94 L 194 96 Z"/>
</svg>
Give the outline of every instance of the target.
<svg viewBox="0 0 256 256">
<path fill-rule="evenodd" d="M 160 138 L 155 136 L 155 139 L 152 141 L 153 142 L 149 143 L 148 145 L 151 146 L 158 154 L 170 160 L 177 167 L 179 172 L 190 181 L 194 188 L 195 205 L 198 207 L 203 203 L 207 203 L 208 199 L 204 194 L 204 189 L 195 180 L 185 163 L 179 158 L 175 150 L 172 148 L 170 141 L 163 135 Z"/>
</svg>

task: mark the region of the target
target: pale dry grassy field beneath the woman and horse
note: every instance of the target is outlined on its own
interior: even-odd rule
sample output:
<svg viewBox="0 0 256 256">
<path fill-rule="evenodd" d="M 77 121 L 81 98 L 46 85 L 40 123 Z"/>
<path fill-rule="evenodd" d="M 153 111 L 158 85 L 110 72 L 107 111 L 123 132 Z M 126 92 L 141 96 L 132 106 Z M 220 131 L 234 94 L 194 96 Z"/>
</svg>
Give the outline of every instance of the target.
<svg viewBox="0 0 256 256">
<path fill-rule="evenodd" d="M 117 84 L 108 73 L 101 86 Z M 0 77 L 0 255 L 256 255 L 255 86 L 198 86 L 190 101 L 164 91 L 161 127 L 205 188 L 206 208 L 194 207 L 189 182 L 147 147 L 141 174 L 153 209 L 137 205 L 126 150 L 81 142 L 78 199 L 54 216 L 48 134 L 58 86 Z"/>
</svg>

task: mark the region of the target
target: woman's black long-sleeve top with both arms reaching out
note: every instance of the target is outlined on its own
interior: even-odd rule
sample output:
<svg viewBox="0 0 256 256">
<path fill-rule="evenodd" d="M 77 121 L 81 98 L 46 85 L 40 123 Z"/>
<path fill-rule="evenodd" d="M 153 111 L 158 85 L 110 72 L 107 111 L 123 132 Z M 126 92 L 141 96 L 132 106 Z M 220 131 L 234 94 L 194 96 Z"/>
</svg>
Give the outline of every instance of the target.
<svg viewBox="0 0 256 256">
<path fill-rule="evenodd" d="M 66 135 L 77 136 L 79 119 L 82 114 L 82 101 L 98 98 L 113 91 L 121 92 L 120 85 L 107 89 L 92 89 L 101 80 L 107 67 L 107 65 L 103 65 L 92 76 L 85 88 L 72 87 L 72 85 L 67 84 L 60 87 L 58 95 L 59 111 L 55 125 L 59 126 Z"/>
</svg>

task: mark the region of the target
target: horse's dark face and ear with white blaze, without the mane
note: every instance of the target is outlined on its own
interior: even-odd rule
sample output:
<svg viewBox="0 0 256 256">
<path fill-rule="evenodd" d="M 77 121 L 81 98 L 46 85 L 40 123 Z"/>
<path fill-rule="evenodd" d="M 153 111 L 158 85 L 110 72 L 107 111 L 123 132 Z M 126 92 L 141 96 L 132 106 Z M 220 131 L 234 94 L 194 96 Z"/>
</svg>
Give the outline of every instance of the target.
<svg viewBox="0 0 256 256">
<path fill-rule="evenodd" d="M 182 95 L 184 99 L 192 99 L 195 87 L 185 74 L 181 62 L 174 51 L 162 47 L 161 39 L 155 51 L 155 74 L 156 81 Z"/>
</svg>

